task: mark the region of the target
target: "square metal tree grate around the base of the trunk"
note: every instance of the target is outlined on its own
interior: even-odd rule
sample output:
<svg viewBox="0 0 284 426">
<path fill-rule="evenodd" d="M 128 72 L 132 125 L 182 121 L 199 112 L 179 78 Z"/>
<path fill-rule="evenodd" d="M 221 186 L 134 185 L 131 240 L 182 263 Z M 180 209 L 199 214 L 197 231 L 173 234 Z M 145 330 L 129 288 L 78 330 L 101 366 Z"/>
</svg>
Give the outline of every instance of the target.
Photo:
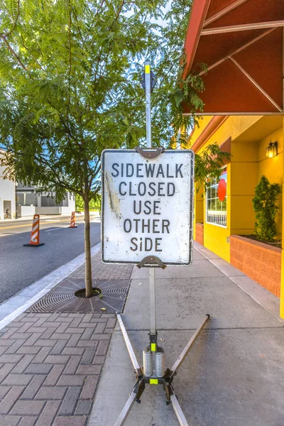
<svg viewBox="0 0 284 426">
<path fill-rule="evenodd" d="M 43 296 L 35 305 L 26 312 L 104 312 L 112 314 L 122 312 L 129 291 L 130 280 L 97 280 L 93 282 L 94 287 L 102 290 L 102 298 L 90 297 L 82 299 L 74 295 L 76 290 L 84 288 L 84 280 L 66 278 L 47 295 Z"/>
</svg>

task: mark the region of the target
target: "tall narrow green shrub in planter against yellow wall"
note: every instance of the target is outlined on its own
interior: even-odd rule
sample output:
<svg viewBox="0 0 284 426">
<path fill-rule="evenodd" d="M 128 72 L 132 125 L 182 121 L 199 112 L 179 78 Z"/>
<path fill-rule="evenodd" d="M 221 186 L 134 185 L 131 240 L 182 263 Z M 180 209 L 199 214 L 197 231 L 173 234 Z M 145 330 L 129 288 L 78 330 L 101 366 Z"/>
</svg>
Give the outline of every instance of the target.
<svg viewBox="0 0 284 426">
<path fill-rule="evenodd" d="M 276 205 L 279 193 L 278 183 L 270 183 L 266 176 L 261 176 L 253 198 L 253 209 L 256 212 L 255 233 L 263 241 L 271 242 L 277 235 L 275 214 L 279 208 Z"/>
</svg>

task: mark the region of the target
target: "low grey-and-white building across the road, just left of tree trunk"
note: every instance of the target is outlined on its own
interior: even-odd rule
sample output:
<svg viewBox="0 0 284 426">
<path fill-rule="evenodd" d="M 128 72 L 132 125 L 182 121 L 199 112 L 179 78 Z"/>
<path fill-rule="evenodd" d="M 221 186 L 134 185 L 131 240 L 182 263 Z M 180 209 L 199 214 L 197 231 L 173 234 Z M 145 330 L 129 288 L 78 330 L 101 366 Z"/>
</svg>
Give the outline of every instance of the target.
<svg viewBox="0 0 284 426">
<path fill-rule="evenodd" d="M 33 214 L 71 214 L 75 212 L 75 197 L 67 192 L 65 200 L 56 203 L 55 194 L 37 194 L 33 186 L 18 183 L 16 187 L 18 217 Z"/>
</svg>

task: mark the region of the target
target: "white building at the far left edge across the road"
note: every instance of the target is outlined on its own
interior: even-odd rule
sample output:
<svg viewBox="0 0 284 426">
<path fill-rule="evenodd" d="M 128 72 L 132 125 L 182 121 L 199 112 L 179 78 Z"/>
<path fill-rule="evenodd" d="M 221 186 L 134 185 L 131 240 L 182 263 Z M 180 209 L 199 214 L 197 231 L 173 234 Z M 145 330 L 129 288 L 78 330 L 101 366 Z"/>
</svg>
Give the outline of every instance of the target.
<svg viewBox="0 0 284 426">
<path fill-rule="evenodd" d="M 15 182 L 4 179 L 4 170 L 0 166 L 0 219 L 13 219 L 16 217 Z"/>
</svg>

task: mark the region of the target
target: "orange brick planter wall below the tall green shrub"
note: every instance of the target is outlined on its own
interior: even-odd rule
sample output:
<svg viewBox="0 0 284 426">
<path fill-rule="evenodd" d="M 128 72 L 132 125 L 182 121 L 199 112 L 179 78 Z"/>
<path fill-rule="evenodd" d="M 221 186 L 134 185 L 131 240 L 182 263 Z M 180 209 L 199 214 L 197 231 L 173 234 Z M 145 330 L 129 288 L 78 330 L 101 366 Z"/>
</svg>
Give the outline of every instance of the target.
<svg viewBox="0 0 284 426">
<path fill-rule="evenodd" d="M 280 297 L 282 249 L 244 236 L 230 236 L 231 265 Z"/>
</svg>

